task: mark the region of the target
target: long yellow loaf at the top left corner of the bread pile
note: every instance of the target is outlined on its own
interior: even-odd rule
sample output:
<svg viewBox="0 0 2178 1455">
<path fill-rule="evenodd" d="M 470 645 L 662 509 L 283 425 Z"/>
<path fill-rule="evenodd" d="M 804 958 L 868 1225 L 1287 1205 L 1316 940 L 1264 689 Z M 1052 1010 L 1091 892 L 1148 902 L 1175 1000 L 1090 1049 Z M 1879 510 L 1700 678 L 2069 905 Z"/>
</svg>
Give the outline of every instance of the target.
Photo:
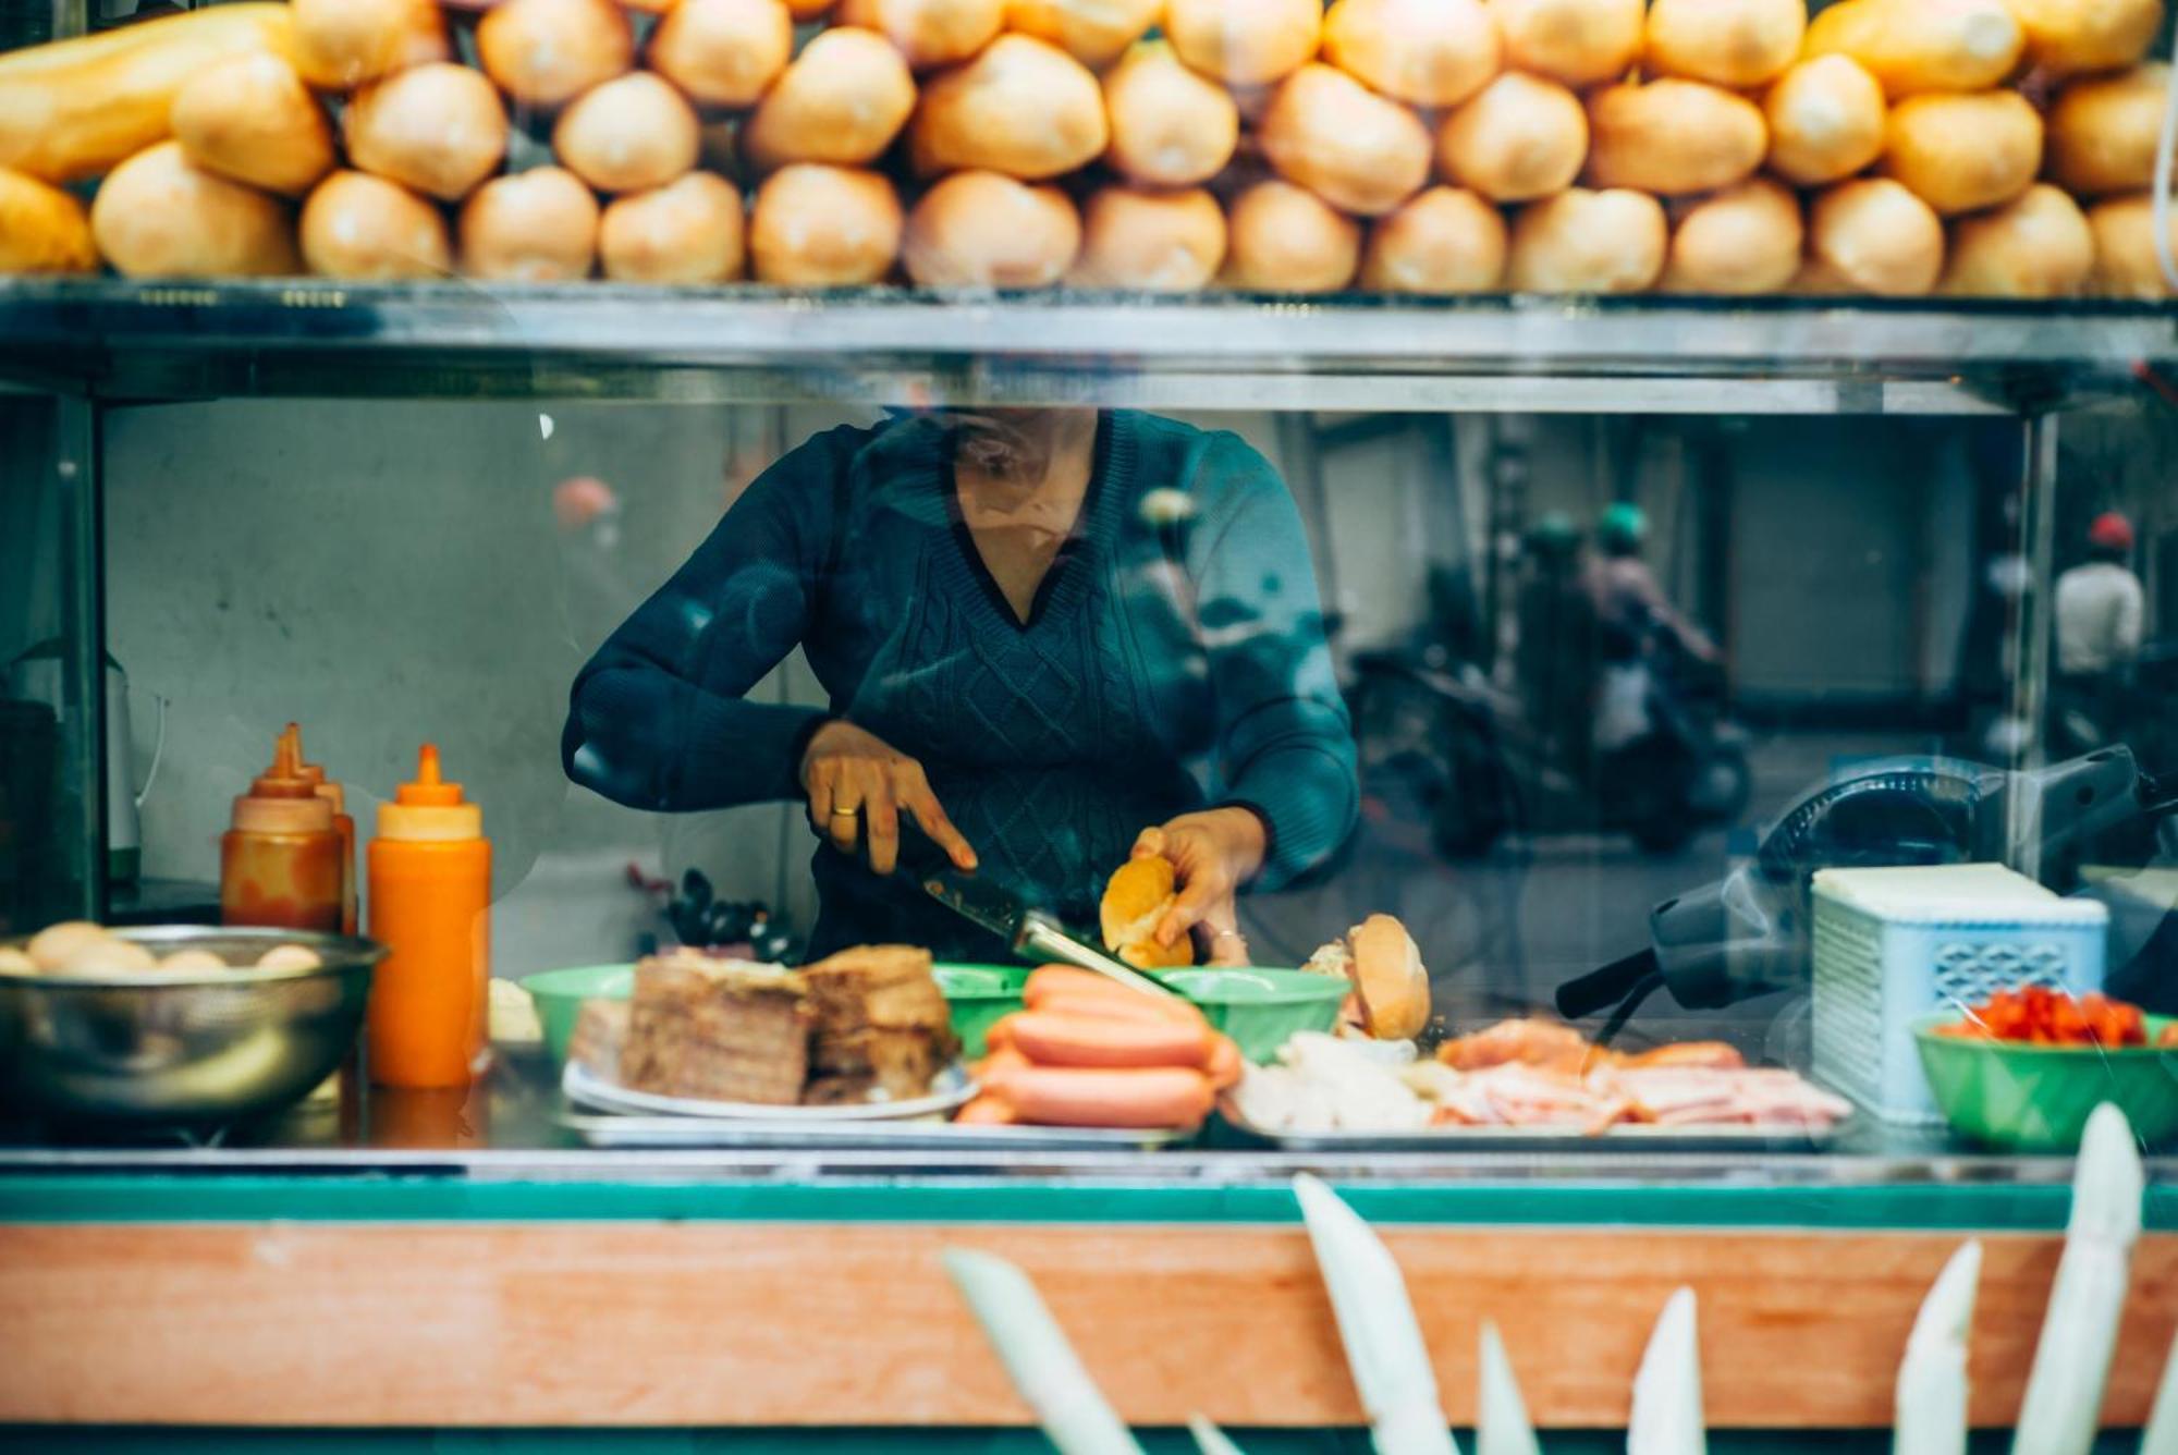
<svg viewBox="0 0 2178 1455">
<path fill-rule="evenodd" d="M 216 4 L 4 50 L 0 168 L 50 183 L 100 176 L 172 135 L 174 96 L 200 70 L 250 50 L 287 54 L 290 37 L 285 4 Z"/>
</svg>

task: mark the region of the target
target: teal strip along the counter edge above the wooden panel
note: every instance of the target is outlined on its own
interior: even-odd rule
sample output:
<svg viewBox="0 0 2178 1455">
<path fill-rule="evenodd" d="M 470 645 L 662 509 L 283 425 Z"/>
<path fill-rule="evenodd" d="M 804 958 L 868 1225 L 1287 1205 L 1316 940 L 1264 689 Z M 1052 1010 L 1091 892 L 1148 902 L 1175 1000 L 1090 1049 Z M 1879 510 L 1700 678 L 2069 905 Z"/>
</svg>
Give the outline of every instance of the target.
<svg viewBox="0 0 2178 1455">
<path fill-rule="evenodd" d="M 1930 1228 L 2054 1233 L 2058 1185 L 1642 1187 L 1344 1183 L 1370 1222 L 1461 1226 Z M 1296 1224 L 1287 1189 L 923 1178 L 821 1183 L 486 1183 L 453 1176 L 0 1176 L 7 1222 L 834 1222 Z M 2178 1185 L 2145 1226 L 2178 1231 Z"/>
</svg>

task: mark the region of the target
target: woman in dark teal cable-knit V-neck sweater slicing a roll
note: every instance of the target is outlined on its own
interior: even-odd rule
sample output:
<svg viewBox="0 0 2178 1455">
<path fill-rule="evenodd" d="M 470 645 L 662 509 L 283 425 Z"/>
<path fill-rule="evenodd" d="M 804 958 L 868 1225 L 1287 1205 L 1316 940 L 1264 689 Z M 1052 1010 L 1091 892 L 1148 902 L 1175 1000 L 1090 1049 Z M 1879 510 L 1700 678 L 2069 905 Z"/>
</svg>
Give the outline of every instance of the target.
<svg viewBox="0 0 2178 1455">
<path fill-rule="evenodd" d="M 802 647 L 830 708 L 749 701 Z M 910 819 L 1096 924 L 1172 858 L 1157 934 L 1244 965 L 1244 887 L 1324 863 L 1355 751 L 1294 503 L 1231 433 L 1133 412 L 895 416 L 771 466 L 575 680 L 568 775 L 632 808 L 804 799 L 810 954 L 1004 947 L 886 878 Z"/>
</svg>

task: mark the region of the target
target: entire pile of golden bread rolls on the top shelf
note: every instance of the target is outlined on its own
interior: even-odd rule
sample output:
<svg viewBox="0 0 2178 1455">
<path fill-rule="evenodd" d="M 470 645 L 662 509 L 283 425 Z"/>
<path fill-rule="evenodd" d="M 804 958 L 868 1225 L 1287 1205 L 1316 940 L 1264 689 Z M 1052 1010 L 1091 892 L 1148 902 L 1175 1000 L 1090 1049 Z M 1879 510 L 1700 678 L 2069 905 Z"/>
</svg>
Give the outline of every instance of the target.
<svg viewBox="0 0 2178 1455">
<path fill-rule="evenodd" d="M 2158 298 L 2161 20 L 233 4 L 0 57 L 0 272 Z"/>
</svg>

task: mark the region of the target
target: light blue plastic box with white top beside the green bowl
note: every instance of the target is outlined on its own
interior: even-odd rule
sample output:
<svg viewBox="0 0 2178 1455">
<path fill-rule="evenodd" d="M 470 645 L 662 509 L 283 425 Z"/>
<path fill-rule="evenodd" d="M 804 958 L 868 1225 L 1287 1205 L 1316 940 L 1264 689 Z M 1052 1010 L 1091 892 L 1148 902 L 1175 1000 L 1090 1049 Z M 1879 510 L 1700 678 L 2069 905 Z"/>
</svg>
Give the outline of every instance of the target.
<svg viewBox="0 0 2178 1455">
<path fill-rule="evenodd" d="M 1941 1124 L 1912 1022 L 1995 991 L 2102 989 L 2110 913 L 2004 865 L 1814 876 L 1814 1078 L 1886 1122 Z"/>
</svg>

